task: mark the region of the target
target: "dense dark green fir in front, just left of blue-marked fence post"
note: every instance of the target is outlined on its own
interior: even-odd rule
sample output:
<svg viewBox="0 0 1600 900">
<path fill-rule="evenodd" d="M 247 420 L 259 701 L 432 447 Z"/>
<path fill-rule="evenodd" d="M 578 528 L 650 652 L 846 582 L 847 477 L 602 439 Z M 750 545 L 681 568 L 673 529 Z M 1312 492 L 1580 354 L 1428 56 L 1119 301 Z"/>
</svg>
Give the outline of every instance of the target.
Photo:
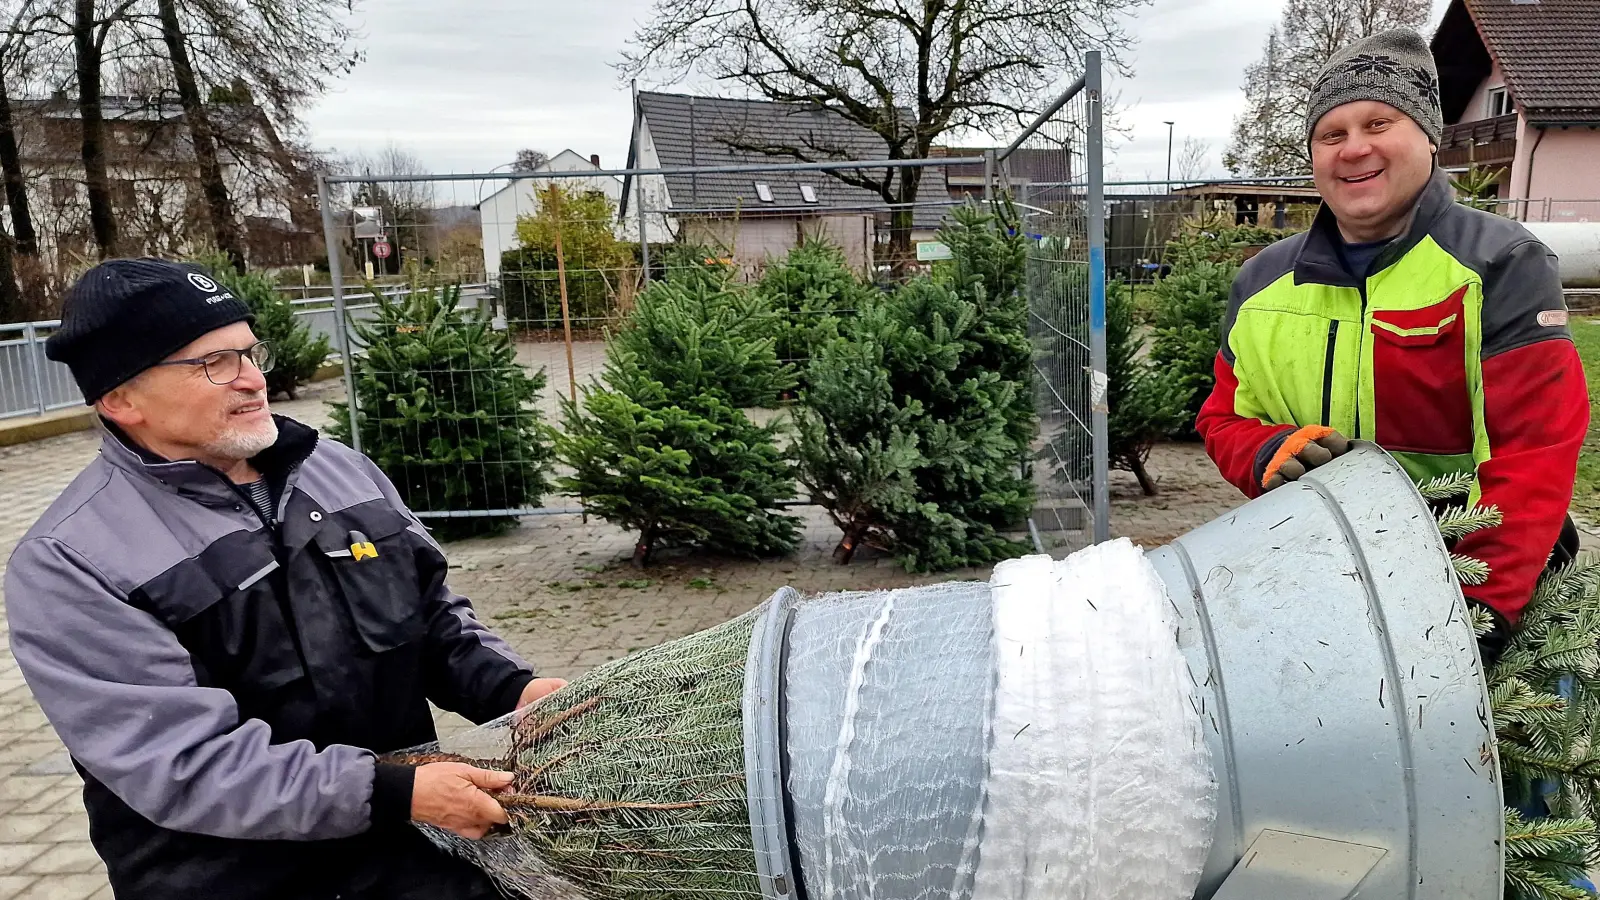
<svg viewBox="0 0 1600 900">
<path fill-rule="evenodd" d="M 907 570 L 984 565 L 1024 548 L 1032 508 L 1016 440 L 1024 386 L 976 364 L 979 309 L 920 279 L 866 304 L 811 362 L 797 412 L 800 479 L 843 532 Z"/>
</svg>

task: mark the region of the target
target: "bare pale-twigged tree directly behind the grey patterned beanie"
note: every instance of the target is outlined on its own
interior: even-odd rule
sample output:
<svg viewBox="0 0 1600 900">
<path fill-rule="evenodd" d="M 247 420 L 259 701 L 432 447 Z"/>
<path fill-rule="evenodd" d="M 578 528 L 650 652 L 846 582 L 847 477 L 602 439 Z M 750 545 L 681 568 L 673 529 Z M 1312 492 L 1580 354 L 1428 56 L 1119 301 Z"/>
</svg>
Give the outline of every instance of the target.
<svg viewBox="0 0 1600 900">
<path fill-rule="evenodd" d="M 1299 175 L 1310 170 L 1306 110 L 1317 72 L 1334 51 L 1394 27 L 1427 24 L 1429 0 L 1290 0 L 1283 18 L 1245 69 L 1248 107 L 1234 120 L 1222 155 L 1235 175 Z"/>
</svg>

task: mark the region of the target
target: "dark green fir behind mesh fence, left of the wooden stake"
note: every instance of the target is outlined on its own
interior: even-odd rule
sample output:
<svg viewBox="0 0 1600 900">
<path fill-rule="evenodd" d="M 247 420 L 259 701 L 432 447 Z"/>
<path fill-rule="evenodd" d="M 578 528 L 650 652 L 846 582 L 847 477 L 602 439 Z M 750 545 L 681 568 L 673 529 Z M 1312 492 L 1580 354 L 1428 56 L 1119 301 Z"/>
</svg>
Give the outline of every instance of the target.
<svg viewBox="0 0 1600 900">
<path fill-rule="evenodd" d="M 418 512 L 538 506 L 550 490 L 552 461 L 534 405 L 544 372 L 530 373 L 504 331 L 458 307 L 459 285 L 373 293 L 373 319 L 350 323 L 365 348 L 352 360 L 362 452 Z M 331 434 L 349 442 L 349 405 L 331 407 Z M 512 524 L 512 516 L 429 522 L 443 540 Z"/>
</svg>

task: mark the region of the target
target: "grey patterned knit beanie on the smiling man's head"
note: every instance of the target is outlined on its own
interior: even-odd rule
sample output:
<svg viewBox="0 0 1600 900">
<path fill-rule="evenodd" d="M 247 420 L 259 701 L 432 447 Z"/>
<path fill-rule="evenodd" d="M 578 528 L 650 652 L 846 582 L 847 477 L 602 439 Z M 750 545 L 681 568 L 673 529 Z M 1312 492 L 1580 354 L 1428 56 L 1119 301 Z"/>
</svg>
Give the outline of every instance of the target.
<svg viewBox="0 0 1600 900">
<path fill-rule="evenodd" d="M 1445 131 L 1438 109 L 1438 69 L 1422 35 L 1392 29 L 1362 38 L 1334 53 L 1317 74 L 1306 112 L 1306 139 L 1336 106 L 1360 99 L 1387 102 L 1411 117 L 1434 146 Z"/>
</svg>

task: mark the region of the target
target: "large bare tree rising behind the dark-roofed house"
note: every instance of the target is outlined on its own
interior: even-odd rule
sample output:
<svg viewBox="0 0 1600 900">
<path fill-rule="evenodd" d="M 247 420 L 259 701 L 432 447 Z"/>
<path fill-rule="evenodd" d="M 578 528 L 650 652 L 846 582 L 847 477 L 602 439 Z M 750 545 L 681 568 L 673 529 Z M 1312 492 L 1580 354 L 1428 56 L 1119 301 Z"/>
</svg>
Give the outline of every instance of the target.
<svg viewBox="0 0 1600 900">
<path fill-rule="evenodd" d="M 654 0 L 622 54 L 624 75 L 709 77 L 773 101 L 819 104 L 883 139 L 886 159 L 926 157 L 958 128 L 1030 120 L 1101 48 L 1126 70 L 1128 13 L 1146 0 Z M 744 149 L 802 162 L 845 147 Z M 898 253 L 910 243 L 920 168 L 835 171 L 894 205 Z"/>
</svg>

